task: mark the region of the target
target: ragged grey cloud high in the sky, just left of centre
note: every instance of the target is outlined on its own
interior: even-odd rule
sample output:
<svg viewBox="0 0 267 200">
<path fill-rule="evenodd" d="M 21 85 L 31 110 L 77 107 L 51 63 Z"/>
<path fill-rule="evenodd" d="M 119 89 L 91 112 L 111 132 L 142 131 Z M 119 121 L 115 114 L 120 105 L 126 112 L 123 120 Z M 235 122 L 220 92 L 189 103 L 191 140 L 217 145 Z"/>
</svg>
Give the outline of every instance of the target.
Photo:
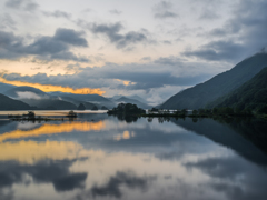
<svg viewBox="0 0 267 200">
<path fill-rule="evenodd" d="M 148 42 L 148 38 L 144 31 L 129 31 L 125 34 L 119 33 L 123 29 L 123 26 L 120 22 L 110 23 L 110 24 L 91 24 L 90 30 L 93 33 L 101 33 L 108 37 L 110 42 L 116 43 L 118 49 L 126 48 L 130 44 L 136 44 L 140 42 Z"/>
</svg>

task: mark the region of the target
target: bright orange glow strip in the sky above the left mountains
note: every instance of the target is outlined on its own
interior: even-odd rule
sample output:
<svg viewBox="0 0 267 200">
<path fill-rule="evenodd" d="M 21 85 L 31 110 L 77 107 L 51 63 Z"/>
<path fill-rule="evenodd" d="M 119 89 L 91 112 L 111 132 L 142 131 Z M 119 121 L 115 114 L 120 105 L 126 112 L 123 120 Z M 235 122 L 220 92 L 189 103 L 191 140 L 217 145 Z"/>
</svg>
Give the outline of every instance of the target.
<svg viewBox="0 0 267 200">
<path fill-rule="evenodd" d="M 0 82 L 7 83 L 7 84 L 13 84 L 17 87 L 20 87 L 20 86 L 33 87 L 44 92 L 60 91 L 60 92 L 68 92 L 68 93 L 76 93 L 76 94 L 99 94 L 99 96 L 102 96 L 103 93 L 106 93 L 106 91 L 102 91 L 99 88 L 73 89 L 70 87 L 62 87 L 62 86 L 40 84 L 40 83 L 31 83 L 31 82 L 22 82 L 22 81 L 8 81 L 1 77 L 0 77 Z"/>
</svg>

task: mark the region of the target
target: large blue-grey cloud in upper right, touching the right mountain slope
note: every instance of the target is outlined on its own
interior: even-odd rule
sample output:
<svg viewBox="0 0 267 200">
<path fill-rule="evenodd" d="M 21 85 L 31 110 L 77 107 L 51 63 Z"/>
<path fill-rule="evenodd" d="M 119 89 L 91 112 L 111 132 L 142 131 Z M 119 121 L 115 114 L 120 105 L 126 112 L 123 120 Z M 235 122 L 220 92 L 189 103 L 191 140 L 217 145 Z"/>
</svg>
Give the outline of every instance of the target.
<svg viewBox="0 0 267 200">
<path fill-rule="evenodd" d="M 237 62 L 267 46 L 267 1 L 239 1 L 234 17 L 222 28 L 216 28 L 204 37 L 210 41 L 197 50 L 185 51 L 186 57 L 204 60 Z"/>
</svg>

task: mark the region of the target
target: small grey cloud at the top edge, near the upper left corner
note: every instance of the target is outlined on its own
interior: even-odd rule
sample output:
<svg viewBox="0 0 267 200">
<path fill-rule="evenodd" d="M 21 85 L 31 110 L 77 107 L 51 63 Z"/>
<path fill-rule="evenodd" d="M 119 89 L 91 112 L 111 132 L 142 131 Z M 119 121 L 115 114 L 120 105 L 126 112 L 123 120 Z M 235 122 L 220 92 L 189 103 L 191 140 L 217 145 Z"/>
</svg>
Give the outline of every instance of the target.
<svg viewBox="0 0 267 200">
<path fill-rule="evenodd" d="M 34 11 L 39 6 L 31 0 L 8 0 L 6 7 L 11 9 L 22 9 L 26 11 Z"/>
</svg>

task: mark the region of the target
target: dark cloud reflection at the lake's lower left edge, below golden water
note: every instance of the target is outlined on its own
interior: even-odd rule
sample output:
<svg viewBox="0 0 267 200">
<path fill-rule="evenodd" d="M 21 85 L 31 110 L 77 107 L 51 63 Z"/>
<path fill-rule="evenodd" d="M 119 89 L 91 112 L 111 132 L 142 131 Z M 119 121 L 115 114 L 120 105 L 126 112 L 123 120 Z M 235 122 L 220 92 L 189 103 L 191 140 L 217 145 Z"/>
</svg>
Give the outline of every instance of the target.
<svg viewBox="0 0 267 200">
<path fill-rule="evenodd" d="M 85 172 L 72 173 L 70 166 L 77 160 L 51 161 L 43 160 L 36 164 L 19 164 L 18 162 L 1 163 L 0 187 L 11 187 L 14 183 L 23 183 L 30 176 L 34 183 L 52 183 L 57 191 L 82 188 L 87 178 Z"/>
</svg>

